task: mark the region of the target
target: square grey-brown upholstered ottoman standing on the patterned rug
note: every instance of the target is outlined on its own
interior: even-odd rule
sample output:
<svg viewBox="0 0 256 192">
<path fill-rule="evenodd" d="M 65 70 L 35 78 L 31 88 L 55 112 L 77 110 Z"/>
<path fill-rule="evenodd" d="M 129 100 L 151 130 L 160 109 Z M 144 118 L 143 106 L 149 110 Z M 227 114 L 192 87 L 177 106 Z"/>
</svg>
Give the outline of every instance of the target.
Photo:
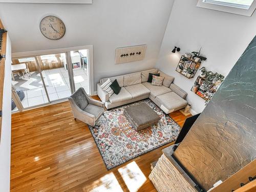
<svg viewBox="0 0 256 192">
<path fill-rule="evenodd" d="M 154 125 L 160 120 L 159 115 L 144 102 L 127 107 L 124 110 L 123 115 L 136 131 Z"/>
</svg>

